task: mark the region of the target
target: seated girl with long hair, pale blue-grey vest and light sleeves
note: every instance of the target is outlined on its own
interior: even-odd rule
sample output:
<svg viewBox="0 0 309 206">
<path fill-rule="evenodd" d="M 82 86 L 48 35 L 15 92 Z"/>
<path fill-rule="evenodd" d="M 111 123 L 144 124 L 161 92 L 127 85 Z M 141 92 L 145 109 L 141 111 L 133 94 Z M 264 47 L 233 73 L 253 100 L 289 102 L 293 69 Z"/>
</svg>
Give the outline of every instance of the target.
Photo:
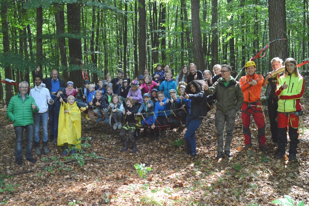
<svg viewBox="0 0 309 206">
<path fill-rule="evenodd" d="M 114 121 L 113 129 L 116 130 L 121 129 L 122 127 L 122 118 L 123 118 L 123 104 L 118 97 L 118 95 L 113 94 L 112 95 L 112 101 L 109 103 L 108 111 L 112 113 L 112 119 Z"/>
</svg>

